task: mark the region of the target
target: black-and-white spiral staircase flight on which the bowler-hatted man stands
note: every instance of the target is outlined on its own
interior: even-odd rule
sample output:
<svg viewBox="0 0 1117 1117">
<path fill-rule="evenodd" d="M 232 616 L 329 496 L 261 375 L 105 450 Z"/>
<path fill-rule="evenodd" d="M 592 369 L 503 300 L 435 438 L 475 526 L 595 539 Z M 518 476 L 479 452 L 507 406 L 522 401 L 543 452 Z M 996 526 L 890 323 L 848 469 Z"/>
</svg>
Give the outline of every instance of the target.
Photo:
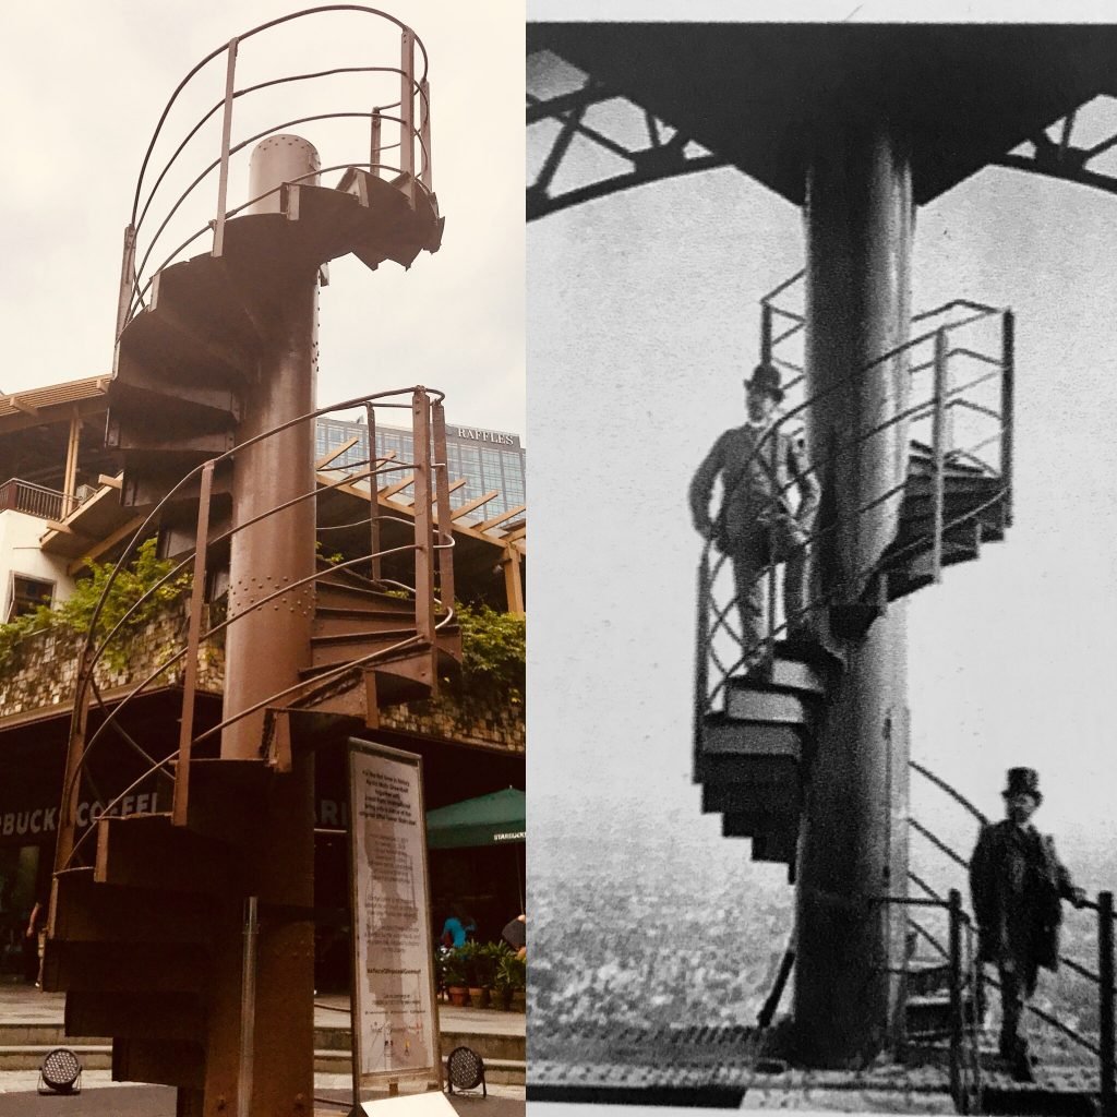
<svg viewBox="0 0 1117 1117">
<path fill-rule="evenodd" d="M 787 285 L 784 285 L 787 286 Z M 782 290 L 783 288 L 781 288 Z M 791 326 L 773 336 L 773 321 L 783 316 Z M 946 321 L 944 322 L 944 317 Z M 855 590 L 829 586 L 810 602 L 808 615 L 824 614 L 830 633 L 828 647 L 820 642 L 790 640 L 785 633 L 804 618 L 775 622 L 774 590 L 770 588 L 768 631 L 756 647 L 743 647 L 734 630 L 735 598 L 732 589 L 718 589 L 718 575 L 728 560 L 707 544 L 699 569 L 699 610 L 695 694 L 694 779 L 701 785 L 703 810 L 720 813 L 723 833 L 752 839 L 752 857 L 789 867 L 794 880 L 803 783 L 809 777 L 813 727 L 821 715 L 829 688 L 841 671 L 840 645 L 863 633 L 888 604 L 937 582 L 943 567 L 975 560 L 982 543 L 1004 537 L 1011 519 L 1011 421 L 1012 421 L 1012 316 L 971 303 L 949 304 L 917 323 L 937 318 L 926 332 L 896 354 L 906 353 L 913 379 L 910 404 L 891 423 L 881 424 L 870 437 L 903 423 L 914 430 L 929 423 L 929 440 L 909 440 L 906 476 L 859 509 L 871 514 L 891 502 L 897 507 L 891 542 L 876 564 L 856 572 Z M 993 356 L 958 343 L 951 336 L 976 323 L 1000 322 L 1000 352 Z M 765 302 L 763 330 L 765 360 L 795 374 L 791 391 L 802 392 L 802 367 L 784 360 L 779 345 L 801 335 L 801 314 Z M 933 354 L 923 361 L 927 350 Z M 983 370 L 963 384 L 951 384 L 951 365 L 976 363 Z M 859 370 L 857 374 L 872 374 Z M 926 395 L 917 391 L 916 378 L 930 373 Z M 995 397 L 995 405 L 981 402 L 982 392 Z M 973 397 L 977 397 L 974 399 Z M 795 403 L 794 394 L 781 422 L 809 421 L 811 400 Z M 976 417 L 992 427 L 973 445 L 954 438 L 955 412 Z M 865 436 L 850 439 L 844 452 L 857 452 Z M 987 447 L 997 451 L 991 465 L 981 457 Z M 764 452 L 761 447 L 758 455 Z M 790 488 L 790 486 L 789 486 Z M 781 494 L 782 495 L 782 494 Z M 805 546 L 825 547 L 830 533 L 843 525 L 818 527 Z M 714 533 L 716 535 L 716 532 Z M 774 569 L 761 577 L 774 579 Z M 723 574 L 724 577 L 724 574 Z"/>
</svg>

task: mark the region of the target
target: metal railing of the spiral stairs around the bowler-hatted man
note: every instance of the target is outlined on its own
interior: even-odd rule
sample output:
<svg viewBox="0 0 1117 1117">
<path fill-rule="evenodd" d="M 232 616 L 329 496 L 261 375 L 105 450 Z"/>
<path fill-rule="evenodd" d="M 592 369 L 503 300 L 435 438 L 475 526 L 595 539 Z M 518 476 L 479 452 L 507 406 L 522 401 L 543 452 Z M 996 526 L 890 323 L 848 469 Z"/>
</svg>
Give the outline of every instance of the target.
<svg viewBox="0 0 1117 1117">
<path fill-rule="evenodd" d="M 724 526 L 726 509 L 736 490 L 723 494 L 722 509 L 714 518 L 698 569 L 698 615 L 697 615 L 697 661 L 696 661 L 696 716 L 700 719 L 714 713 L 716 703 L 724 693 L 733 675 L 747 669 L 753 663 L 771 661 L 777 639 L 789 629 L 809 621 L 819 611 L 846 603 L 851 598 L 865 596 L 871 590 L 872 579 L 888 576 L 889 567 L 897 567 L 904 561 L 928 551 L 932 576 L 938 581 L 945 564 L 944 540 L 951 533 L 977 524 L 983 516 L 996 513 L 1003 526 L 1011 523 L 1012 491 L 1012 420 L 1013 420 L 1013 333 L 1014 322 L 1011 311 L 968 300 L 954 300 L 917 315 L 913 323 L 923 331 L 910 341 L 882 353 L 865 367 L 856 369 L 839 378 L 821 393 L 811 399 L 804 397 L 805 379 L 803 357 L 792 346 L 801 345 L 805 333 L 805 317 L 791 308 L 802 273 L 781 284 L 762 300 L 761 352 L 762 359 L 792 373 L 784 384 L 785 407 L 773 424 L 757 442 L 745 468 L 742 484 L 746 483 L 754 468 L 764 470 L 773 479 L 776 476 L 773 455 L 777 447 L 777 433 L 794 435 L 805 422 L 810 426 L 812 413 L 844 385 L 858 378 L 889 374 L 894 362 L 906 363 L 908 379 L 908 403 L 898 413 L 867 430 L 861 430 L 844 439 L 833 448 L 834 455 L 862 452 L 871 440 L 894 430 L 899 430 L 905 442 L 923 441 L 927 451 L 933 496 L 933 525 L 925 536 L 909 541 L 903 546 L 876 556 L 872 564 L 852 572 L 840 584 L 832 584 L 810 598 L 802 613 L 796 617 L 777 619 L 776 579 L 777 566 L 786 561 L 770 561 L 760 571 L 758 581 L 766 582 L 767 624 L 763 638 L 745 646 L 736 619 L 736 588 L 732 579 L 732 554 L 717 553 L 716 540 Z M 776 299 L 780 299 L 777 303 Z M 930 328 L 926 328 L 926 326 Z M 990 347 L 989 333 L 995 331 L 994 352 Z M 984 337 L 981 336 L 984 331 Z M 974 340 L 977 334 L 977 340 Z M 976 372 L 973 370 L 976 367 Z M 958 382 L 954 382 L 955 378 Z M 953 518 L 946 515 L 946 478 L 952 469 L 972 470 L 974 476 L 990 481 L 1000 480 L 995 494 L 987 500 L 968 508 L 964 515 Z M 822 472 L 820 462 L 811 462 L 808 471 L 815 476 Z M 818 554 L 820 547 L 841 532 L 856 524 L 861 516 L 881 515 L 889 506 L 898 509 L 903 500 L 908 478 L 899 481 L 853 509 L 844 517 L 820 524 L 808 533 L 802 548 L 808 560 Z M 791 496 L 796 481 L 777 488 L 770 507 L 777 507 Z M 757 509 L 757 514 L 764 509 Z M 898 517 L 896 519 L 898 529 Z M 812 584 L 809 582 L 809 585 Z M 877 588 L 878 598 L 885 596 Z M 696 726 L 697 731 L 698 726 Z"/>
</svg>

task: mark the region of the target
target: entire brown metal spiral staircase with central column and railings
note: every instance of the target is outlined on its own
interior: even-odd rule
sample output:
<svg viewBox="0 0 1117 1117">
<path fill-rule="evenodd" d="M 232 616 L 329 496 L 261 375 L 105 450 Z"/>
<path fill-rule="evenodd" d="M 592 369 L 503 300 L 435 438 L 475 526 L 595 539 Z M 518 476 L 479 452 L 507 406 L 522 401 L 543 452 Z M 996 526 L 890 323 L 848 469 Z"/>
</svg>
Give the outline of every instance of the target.
<svg viewBox="0 0 1117 1117">
<path fill-rule="evenodd" d="M 308 17 L 362 20 L 364 30 L 343 40 L 362 57 L 246 77 L 246 44 L 279 37 L 283 27 L 305 30 Z M 392 40 L 389 64 L 369 61 L 383 35 Z M 305 60 L 317 40 L 305 35 L 298 46 Z M 270 57 L 269 44 L 264 61 Z M 184 139 L 168 140 L 172 115 L 176 124 L 207 96 L 203 73 L 221 78 L 223 95 L 185 124 Z M 345 103 L 318 99 L 334 97 L 338 85 Z M 277 107 L 289 94 L 295 107 Z M 286 134 L 296 125 L 308 134 Z M 218 126 L 219 140 L 198 159 Z M 342 172 L 340 181 L 319 184 L 331 171 Z M 216 207 L 202 193 L 210 187 Z M 314 402 L 326 265 L 352 254 L 370 269 L 384 261 L 408 268 L 420 252 L 438 250 L 442 225 L 426 50 L 410 28 L 363 6 L 285 16 L 212 51 L 172 94 L 143 157 L 125 231 L 106 427 L 106 445 L 124 465 L 122 505 L 143 525 L 108 590 L 156 524 L 175 540 L 193 533 L 194 543 L 123 618 L 98 624 L 103 598 L 90 624 L 67 750 L 44 985 L 67 993 L 70 1034 L 113 1037 L 116 1078 L 178 1087 L 184 1113 L 223 1106 L 232 1089 L 240 1111 L 273 1111 L 306 1096 L 312 753 L 354 722 L 375 727 L 383 706 L 431 695 L 460 659 L 441 393 L 420 386 L 327 408 Z M 207 231 L 211 239 L 199 245 Z M 370 436 L 376 409 L 410 408 L 414 460 L 366 464 L 367 551 L 331 565 L 314 555 L 321 487 L 312 424 L 360 405 Z M 370 456 L 374 447 L 370 437 Z M 392 524 L 389 536 L 394 517 L 379 512 L 378 478 L 404 471 L 414 516 L 403 521 L 403 535 Z M 346 471 L 337 484 L 352 489 L 360 479 Z M 413 584 L 399 573 L 408 555 Z M 207 618 L 209 585 L 226 570 L 227 615 Z M 122 700 L 114 693 L 108 701 L 98 665 L 127 640 L 139 610 L 180 580 L 189 582 L 184 639 L 137 672 L 146 678 L 133 678 Z M 105 627 L 107 636 L 98 631 Z M 227 634 L 225 714 L 214 716 L 199 691 L 217 687 L 199 678 L 203 657 Z M 180 686 L 175 724 L 162 715 Z M 96 804 L 92 818 L 80 802 L 85 789 Z M 144 799 L 146 789 L 157 795 Z M 241 945 L 233 927 L 241 901 L 258 901 L 275 930 L 258 943 L 269 952 L 260 962 L 268 977 L 251 994 L 230 968 Z M 284 1033 L 254 1052 L 240 1033 L 238 1049 L 232 1014 L 245 1025 L 257 1005 L 284 999 Z M 233 1049 L 241 1065 L 230 1077 L 222 1060 Z M 267 1075 L 254 1081 L 245 1060 Z"/>
</svg>

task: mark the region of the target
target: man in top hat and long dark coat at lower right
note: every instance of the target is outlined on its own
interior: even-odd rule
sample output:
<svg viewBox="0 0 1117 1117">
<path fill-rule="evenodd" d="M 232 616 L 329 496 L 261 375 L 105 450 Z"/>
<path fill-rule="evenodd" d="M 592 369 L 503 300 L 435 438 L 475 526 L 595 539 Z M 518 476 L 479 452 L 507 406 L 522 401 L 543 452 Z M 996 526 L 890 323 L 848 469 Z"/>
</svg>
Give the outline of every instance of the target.
<svg viewBox="0 0 1117 1117">
<path fill-rule="evenodd" d="M 1062 900 L 1080 907 L 1085 894 L 1031 823 L 1043 796 L 1034 768 L 1009 768 L 1005 818 L 982 827 L 970 860 L 980 962 L 995 963 L 1001 982 L 1001 1057 L 1020 1081 L 1032 1081 L 1023 1034 L 1024 1004 L 1040 966 L 1059 967 Z"/>
</svg>

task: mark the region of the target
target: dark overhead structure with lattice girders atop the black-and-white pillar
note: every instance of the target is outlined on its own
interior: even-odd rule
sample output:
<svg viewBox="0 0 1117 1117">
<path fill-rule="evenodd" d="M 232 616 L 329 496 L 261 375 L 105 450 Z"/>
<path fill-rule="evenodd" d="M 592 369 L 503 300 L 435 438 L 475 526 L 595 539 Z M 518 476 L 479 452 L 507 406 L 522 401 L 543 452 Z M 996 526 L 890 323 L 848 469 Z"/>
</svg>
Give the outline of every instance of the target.
<svg viewBox="0 0 1117 1117">
<path fill-rule="evenodd" d="M 913 146 L 915 201 L 928 202 L 1111 85 L 1117 28 L 1009 25 L 536 23 L 528 51 L 550 50 L 590 76 L 550 102 L 528 101 L 528 123 L 564 122 L 544 171 L 528 187 L 528 219 L 643 182 L 733 164 L 802 204 L 810 153 L 837 127 L 887 118 Z M 607 96 L 628 98 L 713 154 L 656 162 L 610 150 L 628 174 L 551 197 L 550 183 L 582 114 Z M 1042 141 L 1038 150 L 1047 154 Z M 1061 176 L 1102 189 L 1061 147 Z M 641 160 L 643 159 L 643 162 Z M 1052 173 L 1042 157 L 1025 170 Z M 1100 181 L 1099 181 L 1100 180 Z"/>
</svg>

